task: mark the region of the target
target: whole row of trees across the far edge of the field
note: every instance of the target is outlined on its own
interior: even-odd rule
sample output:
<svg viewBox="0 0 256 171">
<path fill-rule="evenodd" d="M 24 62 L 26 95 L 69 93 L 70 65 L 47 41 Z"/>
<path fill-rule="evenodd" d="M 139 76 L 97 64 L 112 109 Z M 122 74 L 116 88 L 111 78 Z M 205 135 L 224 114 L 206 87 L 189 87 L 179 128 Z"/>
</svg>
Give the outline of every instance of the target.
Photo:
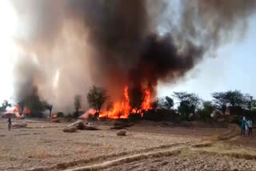
<svg viewBox="0 0 256 171">
<path fill-rule="evenodd" d="M 37 93 L 33 93 L 23 101 L 18 101 L 20 113 L 27 107 L 31 110 L 30 117 L 42 117 L 42 112 L 48 110 L 49 115 L 53 109 L 47 101 L 41 101 Z M 229 107 L 236 107 L 250 111 L 250 117 L 256 117 L 256 100 L 250 94 L 242 93 L 239 90 L 229 90 L 226 92 L 212 93 L 212 101 L 204 101 L 195 93 L 188 92 L 174 92 L 170 96 L 159 97 L 152 101 L 152 109 L 149 111 L 142 111 L 144 116 L 151 120 L 164 120 L 170 117 L 171 114 L 176 113 L 181 120 L 190 121 L 193 117 L 198 117 L 203 121 L 210 120 L 210 114 L 214 110 L 220 113 L 226 113 Z M 132 92 L 130 97 L 130 105 L 133 109 L 140 109 L 142 104 L 142 94 Z M 92 86 L 86 95 L 86 100 L 90 108 L 95 109 L 96 117 L 102 112 L 102 109 L 111 111 L 114 107 L 113 101 L 107 94 L 106 89 Z M 175 101 L 175 102 L 174 102 Z M 10 106 L 8 101 L 4 101 L 0 107 L 0 112 L 5 111 Z M 79 117 L 82 108 L 82 96 L 76 95 L 74 97 L 74 113 L 73 117 Z M 167 116 L 166 116 L 167 115 Z M 131 117 L 136 117 L 132 116 Z"/>
</svg>

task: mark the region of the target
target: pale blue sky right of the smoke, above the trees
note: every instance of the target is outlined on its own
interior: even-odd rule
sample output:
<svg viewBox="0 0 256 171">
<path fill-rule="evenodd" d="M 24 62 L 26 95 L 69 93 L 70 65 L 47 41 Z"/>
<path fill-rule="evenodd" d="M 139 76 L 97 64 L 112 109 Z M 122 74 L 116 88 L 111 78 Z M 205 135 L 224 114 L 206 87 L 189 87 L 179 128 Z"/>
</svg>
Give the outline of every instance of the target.
<svg viewBox="0 0 256 171">
<path fill-rule="evenodd" d="M 222 46 L 214 58 L 205 58 L 186 78 L 175 85 L 158 86 L 158 96 L 174 91 L 198 93 L 211 99 L 211 93 L 238 89 L 256 97 L 256 15 L 250 18 L 246 35 L 238 42 Z"/>
</svg>

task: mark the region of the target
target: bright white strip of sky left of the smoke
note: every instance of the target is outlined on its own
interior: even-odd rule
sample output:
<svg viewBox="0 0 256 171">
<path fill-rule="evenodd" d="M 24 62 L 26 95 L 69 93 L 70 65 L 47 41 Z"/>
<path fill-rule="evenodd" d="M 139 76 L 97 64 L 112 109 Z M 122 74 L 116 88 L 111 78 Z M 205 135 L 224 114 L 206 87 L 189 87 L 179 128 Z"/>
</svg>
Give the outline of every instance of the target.
<svg viewBox="0 0 256 171">
<path fill-rule="evenodd" d="M 15 46 L 12 36 L 17 26 L 17 16 L 8 0 L 0 2 L 0 102 L 10 100 L 13 94 L 12 64 Z"/>
</svg>

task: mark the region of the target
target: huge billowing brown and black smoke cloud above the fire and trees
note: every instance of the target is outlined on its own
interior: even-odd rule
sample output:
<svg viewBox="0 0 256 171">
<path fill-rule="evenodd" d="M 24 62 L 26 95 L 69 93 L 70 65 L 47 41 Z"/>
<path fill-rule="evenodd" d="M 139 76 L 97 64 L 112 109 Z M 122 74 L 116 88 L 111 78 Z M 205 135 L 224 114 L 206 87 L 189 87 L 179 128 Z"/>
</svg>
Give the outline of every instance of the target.
<svg viewBox="0 0 256 171">
<path fill-rule="evenodd" d="M 131 89 L 174 82 L 206 54 L 242 38 L 254 0 L 12 0 L 16 97 L 37 86 L 42 99 L 70 109 L 90 85 L 118 99 Z M 26 88 L 24 88 L 26 87 Z"/>
</svg>

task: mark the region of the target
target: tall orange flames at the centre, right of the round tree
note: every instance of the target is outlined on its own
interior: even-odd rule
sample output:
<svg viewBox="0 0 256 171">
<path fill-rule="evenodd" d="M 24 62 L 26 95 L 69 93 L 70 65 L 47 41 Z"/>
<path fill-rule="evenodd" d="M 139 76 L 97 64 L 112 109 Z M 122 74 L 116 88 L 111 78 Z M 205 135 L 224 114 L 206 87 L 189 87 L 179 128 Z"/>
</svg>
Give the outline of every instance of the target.
<svg viewBox="0 0 256 171">
<path fill-rule="evenodd" d="M 102 111 L 99 117 L 107 117 L 111 119 L 126 119 L 129 117 L 130 113 L 141 113 L 143 117 L 143 112 L 152 109 L 151 107 L 151 92 L 150 89 L 144 90 L 144 96 L 142 99 L 141 109 L 137 112 L 135 109 L 130 107 L 130 97 L 129 97 L 129 88 L 126 85 L 122 97 L 122 102 L 118 101 L 114 103 L 113 109 L 111 111 Z M 87 117 L 86 117 L 87 118 Z"/>
</svg>

